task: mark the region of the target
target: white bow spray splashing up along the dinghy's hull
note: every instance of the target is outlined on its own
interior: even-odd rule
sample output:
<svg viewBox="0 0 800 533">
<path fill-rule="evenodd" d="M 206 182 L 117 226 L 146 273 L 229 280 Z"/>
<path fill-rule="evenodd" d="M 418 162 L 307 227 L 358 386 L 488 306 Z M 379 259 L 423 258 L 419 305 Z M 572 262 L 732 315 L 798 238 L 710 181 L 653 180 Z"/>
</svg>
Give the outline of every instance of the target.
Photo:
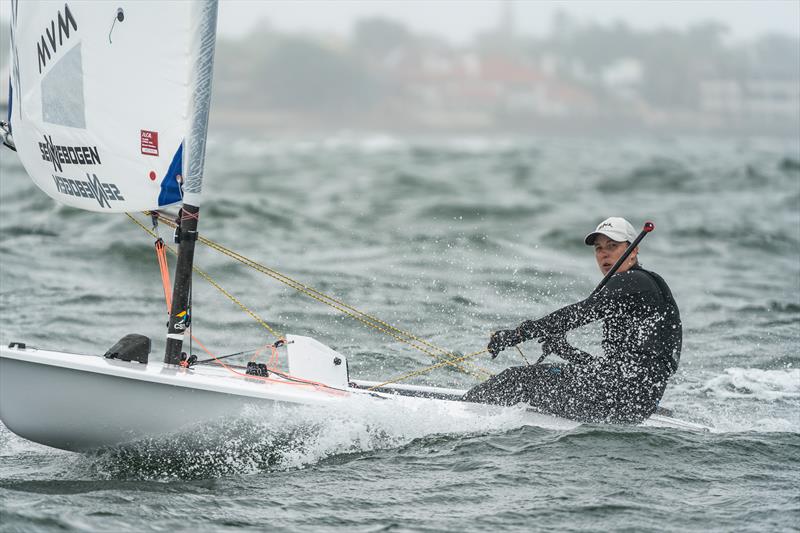
<svg viewBox="0 0 800 533">
<path fill-rule="evenodd" d="M 393 402 L 388 402 L 393 403 Z M 493 416 L 450 406 L 397 409 L 356 402 L 346 412 L 322 407 L 249 407 L 241 418 L 191 428 L 79 458 L 101 479 L 203 479 L 285 471 L 396 448 L 431 435 L 505 431 L 524 411 Z M 88 463 L 88 464 L 87 464 Z M 78 466 L 78 465 L 76 465 Z"/>
</svg>

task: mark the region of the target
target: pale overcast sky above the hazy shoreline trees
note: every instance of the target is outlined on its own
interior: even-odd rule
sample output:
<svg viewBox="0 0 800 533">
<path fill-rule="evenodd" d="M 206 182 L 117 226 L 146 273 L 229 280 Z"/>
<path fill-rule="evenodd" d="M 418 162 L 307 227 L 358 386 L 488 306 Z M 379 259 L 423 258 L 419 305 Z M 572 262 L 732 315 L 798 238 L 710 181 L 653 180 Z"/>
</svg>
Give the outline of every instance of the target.
<svg viewBox="0 0 800 533">
<path fill-rule="evenodd" d="M 236 35 L 268 21 L 282 31 L 348 34 L 354 21 L 383 16 L 412 30 L 464 43 L 494 27 L 509 0 L 221 0 L 219 31 Z M 703 20 L 728 26 L 733 39 L 767 32 L 800 36 L 800 0 L 513 0 L 521 33 L 543 35 L 562 10 L 584 21 L 624 20 L 635 28 L 685 28 Z"/>
</svg>

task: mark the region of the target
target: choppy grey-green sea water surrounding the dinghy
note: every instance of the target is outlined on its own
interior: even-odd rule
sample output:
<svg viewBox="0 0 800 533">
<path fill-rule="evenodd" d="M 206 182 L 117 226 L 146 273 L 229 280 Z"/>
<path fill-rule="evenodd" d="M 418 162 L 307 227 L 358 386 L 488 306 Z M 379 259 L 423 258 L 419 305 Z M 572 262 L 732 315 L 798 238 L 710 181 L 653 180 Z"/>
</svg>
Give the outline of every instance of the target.
<svg viewBox="0 0 800 533">
<path fill-rule="evenodd" d="M 7 151 L 0 170 L 0 340 L 103 353 L 136 331 L 163 350 L 151 239 L 124 216 L 58 207 Z M 582 238 L 599 220 L 654 220 L 641 258 L 671 285 L 685 327 L 663 404 L 715 431 L 552 431 L 524 426 L 514 410 L 470 420 L 363 406 L 248 410 L 203 432 L 77 455 L 0 427 L 0 530 L 800 524 L 796 139 L 217 134 L 207 175 L 205 236 L 465 353 L 494 329 L 585 296 L 599 274 Z M 354 376 L 431 363 L 211 250 L 197 263 L 277 330 L 347 354 Z M 217 353 L 270 340 L 202 280 L 195 325 Z M 598 337 L 588 327 L 571 339 L 597 351 Z M 479 362 L 499 371 L 521 359 Z M 415 379 L 473 383 L 445 369 Z M 98 401 L 113 408 L 113 398 Z"/>
</svg>

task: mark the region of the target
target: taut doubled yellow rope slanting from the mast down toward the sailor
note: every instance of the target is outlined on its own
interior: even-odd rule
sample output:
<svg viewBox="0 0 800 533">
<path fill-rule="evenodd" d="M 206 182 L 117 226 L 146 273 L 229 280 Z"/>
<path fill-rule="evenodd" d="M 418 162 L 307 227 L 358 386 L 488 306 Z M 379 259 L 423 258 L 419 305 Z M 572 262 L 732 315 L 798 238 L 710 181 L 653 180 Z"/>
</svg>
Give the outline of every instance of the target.
<svg viewBox="0 0 800 533">
<path fill-rule="evenodd" d="M 157 213 L 157 212 L 145 212 L 145 214 L 150 215 L 150 216 L 157 216 L 158 219 L 161 222 L 163 222 L 164 224 L 166 224 L 166 225 L 168 225 L 170 227 L 174 228 L 176 226 L 175 222 L 173 222 L 172 220 L 170 220 L 169 218 L 167 218 L 163 214 L 160 214 L 160 213 Z M 131 216 L 131 215 L 128 215 L 128 216 Z M 133 219 L 133 217 L 131 217 L 131 218 Z M 144 226 L 142 226 L 142 224 L 138 223 L 138 221 L 136 219 L 133 219 L 133 220 L 136 221 L 137 224 L 139 224 L 139 226 L 144 228 Z M 354 308 L 354 307 L 342 302 L 341 300 L 338 300 L 338 299 L 334 298 L 333 296 L 329 296 L 327 294 L 324 294 L 324 293 L 314 289 L 313 287 L 309 287 L 307 285 L 304 285 L 303 283 L 301 283 L 301 282 L 299 282 L 299 281 L 297 281 L 295 279 L 292 279 L 289 276 L 286 276 L 285 274 L 282 274 L 282 273 L 280 273 L 280 272 L 278 272 L 276 270 L 273 270 L 273 269 L 271 269 L 269 267 L 261 265 L 261 264 L 259 264 L 258 262 L 254 261 L 252 259 L 249 259 L 249 258 L 247 258 L 247 257 L 245 257 L 245 256 L 243 256 L 243 255 L 241 255 L 241 254 L 239 254 L 237 252 L 234 252 L 233 250 L 230 250 L 230 249 L 222 246 L 219 243 L 216 243 L 216 242 L 212 241 L 211 239 L 208 239 L 208 238 L 203 237 L 202 235 L 200 235 L 200 236 L 197 237 L 197 240 L 199 240 L 201 243 L 203 243 L 204 245 L 208 246 L 209 248 L 211 248 L 213 250 L 216 250 L 217 252 L 220 252 L 223 255 L 226 255 L 226 256 L 230 257 L 231 259 L 233 259 L 235 261 L 238 261 L 239 263 L 242 263 L 245 266 L 248 266 L 248 267 L 250 267 L 250 268 L 252 268 L 252 269 L 254 269 L 254 270 L 256 270 L 256 271 L 258 271 L 258 272 L 260 272 L 262 274 L 265 274 L 265 275 L 267 275 L 267 276 L 269 276 L 269 277 L 271 277 L 271 278 L 273 278 L 273 279 L 275 279 L 277 281 L 280 281 L 284 285 L 287 285 L 287 286 L 295 289 L 296 291 L 301 292 L 301 293 L 305 294 L 306 296 L 308 296 L 308 297 L 310 297 L 310 298 L 312 298 L 312 299 L 314 299 L 314 300 L 316 300 L 316 301 L 318 301 L 320 303 L 323 303 L 323 304 L 325 304 L 325 305 L 327 305 L 329 307 L 332 307 L 332 308 L 336 309 L 337 311 L 349 316 L 350 318 L 358 320 L 359 322 L 361 322 L 362 324 L 364 324 L 364 325 L 366 325 L 368 327 L 376 329 L 376 330 L 386 334 L 387 336 L 392 337 L 393 339 L 395 339 L 395 340 L 397 340 L 399 342 L 407 344 L 408 346 L 411 346 L 412 348 L 415 348 L 415 349 L 421 351 L 422 353 L 425 353 L 425 354 L 429 355 L 433 359 L 437 359 L 439 361 L 442 361 L 444 363 L 444 365 L 452 366 L 452 367 L 454 367 L 454 368 L 456 368 L 456 369 L 458 369 L 458 370 L 460 370 L 460 371 L 462 371 L 464 373 L 472 375 L 473 377 L 475 377 L 477 379 L 485 379 L 485 378 L 488 378 L 488 377 L 490 377 L 492 375 L 492 373 L 489 372 L 488 370 L 486 370 L 485 368 L 481 368 L 480 366 L 478 366 L 478 365 L 476 365 L 474 363 L 471 363 L 471 362 L 468 363 L 468 365 L 471 368 L 465 368 L 464 365 L 461 365 L 456 360 L 457 358 L 455 357 L 455 355 L 453 354 L 452 351 L 446 350 L 446 349 L 441 348 L 439 346 L 436 346 L 431 342 L 428 342 L 428 341 L 426 341 L 424 339 L 421 339 L 421 338 L 417 337 L 413 333 L 410 333 L 408 331 L 399 329 L 399 328 L 397 328 L 395 326 L 392 326 L 391 324 L 389 324 L 389 323 L 387 323 L 387 322 L 385 322 L 385 321 L 383 321 L 383 320 L 381 320 L 381 319 L 379 319 L 379 318 L 377 318 L 375 316 L 372 316 L 372 315 L 370 315 L 368 313 L 365 313 L 363 311 L 359 311 L 358 309 L 356 309 L 356 308 Z M 203 276 L 205 278 L 207 275 L 201 274 L 201 276 Z M 213 283 L 209 278 L 206 278 L 206 280 L 218 287 L 218 285 Z M 218 287 L 218 288 L 220 290 L 222 290 L 221 287 Z M 229 296 L 229 298 L 233 298 L 233 297 Z M 252 314 L 251 314 L 251 316 L 252 316 Z M 279 337 L 279 336 L 276 335 L 276 337 Z"/>
</svg>

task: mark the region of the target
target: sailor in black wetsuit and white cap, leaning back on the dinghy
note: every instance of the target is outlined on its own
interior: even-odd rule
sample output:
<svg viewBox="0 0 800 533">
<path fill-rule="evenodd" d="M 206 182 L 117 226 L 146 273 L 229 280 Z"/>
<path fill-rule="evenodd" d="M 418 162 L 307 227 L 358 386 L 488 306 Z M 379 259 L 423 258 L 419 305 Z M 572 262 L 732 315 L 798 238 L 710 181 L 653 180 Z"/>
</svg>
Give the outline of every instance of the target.
<svg viewBox="0 0 800 533">
<path fill-rule="evenodd" d="M 585 238 L 607 274 L 636 238 L 620 217 L 601 222 Z M 543 357 L 565 364 L 511 367 L 467 392 L 465 401 L 514 405 L 526 402 L 539 411 L 583 422 L 638 423 L 655 412 L 667 379 L 678 368 L 680 313 L 666 282 L 639 264 L 634 248 L 602 290 L 516 329 L 492 334 L 488 350 L 530 339 L 542 343 Z M 569 344 L 568 331 L 603 321 L 603 356 Z"/>
</svg>

